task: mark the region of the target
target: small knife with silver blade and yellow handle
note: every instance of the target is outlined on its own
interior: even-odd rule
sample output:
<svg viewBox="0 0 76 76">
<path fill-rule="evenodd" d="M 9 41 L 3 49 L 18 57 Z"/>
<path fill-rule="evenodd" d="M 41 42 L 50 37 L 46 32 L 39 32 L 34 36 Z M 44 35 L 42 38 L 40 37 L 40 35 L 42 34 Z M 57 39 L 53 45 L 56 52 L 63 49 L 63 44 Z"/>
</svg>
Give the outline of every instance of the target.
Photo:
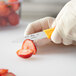
<svg viewBox="0 0 76 76">
<path fill-rule="evenodd" d="M 25 39 L 30 39 L 30 40 L 39 40 L 44 38 L 50 39 L 54 29 L 55 28 L 46 29 L 46 30 L 43 30 L 42 32 L 26 35 Z"/>
</svg>

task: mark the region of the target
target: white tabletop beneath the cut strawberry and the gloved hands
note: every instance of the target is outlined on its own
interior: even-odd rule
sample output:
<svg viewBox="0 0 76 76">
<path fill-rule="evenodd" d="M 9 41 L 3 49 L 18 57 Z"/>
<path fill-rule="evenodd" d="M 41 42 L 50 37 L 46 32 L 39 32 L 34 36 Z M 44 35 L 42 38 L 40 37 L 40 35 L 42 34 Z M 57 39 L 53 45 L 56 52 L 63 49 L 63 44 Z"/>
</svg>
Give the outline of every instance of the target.
<svg viewBox="0 0 76 76">
<path fill-rule="evenodd" d="M 48 45 L 38 49 L 29 59 L 16 55 L 26 24 L 0 28 L 0 68 L 8 68 L 17 76 L 76 76 L 76 46 Z"/>
</svg>

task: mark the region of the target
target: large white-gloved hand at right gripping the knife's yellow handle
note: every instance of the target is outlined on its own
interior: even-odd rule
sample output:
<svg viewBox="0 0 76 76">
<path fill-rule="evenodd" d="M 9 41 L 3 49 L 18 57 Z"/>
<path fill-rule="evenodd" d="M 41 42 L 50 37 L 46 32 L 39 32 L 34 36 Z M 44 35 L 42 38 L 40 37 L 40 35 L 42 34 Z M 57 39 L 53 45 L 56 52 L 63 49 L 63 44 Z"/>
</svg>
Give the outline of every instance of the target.
<svg viewBox="0 0 76 76">
<path fill-rule="evenodd" d="M 69 1 L 58 14 L 52 27 L 56 26 L 52 41 L 70 45 L 76 41 L 76 0 Z"/>
</svg>

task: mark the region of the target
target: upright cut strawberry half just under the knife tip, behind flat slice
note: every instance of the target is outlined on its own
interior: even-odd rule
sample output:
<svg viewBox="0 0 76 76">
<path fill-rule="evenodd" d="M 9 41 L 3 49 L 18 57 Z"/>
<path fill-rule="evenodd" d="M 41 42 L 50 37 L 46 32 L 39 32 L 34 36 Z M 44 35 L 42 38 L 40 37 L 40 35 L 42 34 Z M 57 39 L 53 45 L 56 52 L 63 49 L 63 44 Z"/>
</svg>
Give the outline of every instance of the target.
<svg viewBox="0 0 76 76">
<path fill-rule="evenodd" d="M 33 54 L 35 55 L 37 52 L 36 46 L 34 42 L 30 39 L 26 39 L 22 44 L 22 49 L 30 49 L 33 50 Z"/>
</svg>

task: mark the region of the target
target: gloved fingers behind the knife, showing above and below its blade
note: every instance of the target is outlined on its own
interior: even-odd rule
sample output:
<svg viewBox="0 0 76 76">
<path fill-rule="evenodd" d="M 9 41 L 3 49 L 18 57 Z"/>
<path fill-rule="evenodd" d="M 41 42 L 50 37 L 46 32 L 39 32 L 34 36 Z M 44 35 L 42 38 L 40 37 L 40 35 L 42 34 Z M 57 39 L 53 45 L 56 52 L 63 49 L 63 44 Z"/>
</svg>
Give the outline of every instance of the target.
<svg viewBox="0 0 76 76">
<path fill-rule="evenodd" d="M 24 36 L 51 28 L 53 21 L 53 17 L 45 17 L 30 23 L 24 32 Z M 37 46 L 43 46 L 48 44 L 49 42 L 51 42 L 51 40 L 47 38 L 35 41 Z"/>
</svg>

